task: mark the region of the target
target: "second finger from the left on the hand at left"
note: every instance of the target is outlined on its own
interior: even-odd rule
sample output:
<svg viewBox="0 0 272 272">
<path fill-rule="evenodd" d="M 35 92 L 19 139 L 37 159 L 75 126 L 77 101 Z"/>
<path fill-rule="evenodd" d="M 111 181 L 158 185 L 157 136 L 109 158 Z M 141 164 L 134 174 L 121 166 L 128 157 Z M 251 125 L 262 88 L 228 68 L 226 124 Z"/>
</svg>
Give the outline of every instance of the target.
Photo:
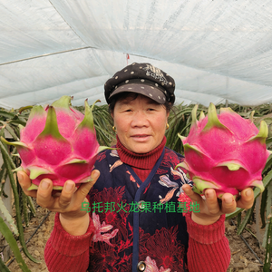
<svg viewBox="0 0 272 272">
<path fill-rule="evenodd" d="M 41 181 L 37 191 L 37 204 L 53 210 L 55 199 L 52 196 L 53 182 L 49 179 Z"/>
</svg>

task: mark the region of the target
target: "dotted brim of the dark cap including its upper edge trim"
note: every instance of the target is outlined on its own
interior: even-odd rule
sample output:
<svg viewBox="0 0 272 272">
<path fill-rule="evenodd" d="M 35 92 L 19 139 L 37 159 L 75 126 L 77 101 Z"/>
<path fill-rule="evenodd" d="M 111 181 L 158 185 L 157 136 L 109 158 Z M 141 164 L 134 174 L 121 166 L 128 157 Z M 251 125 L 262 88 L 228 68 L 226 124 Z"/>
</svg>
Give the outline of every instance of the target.
<svg viewBox="0 0 272 272">
<path fill-rule="evenodd" d="M 168 92 L 163 89 L 158 83 L 151 82 L 146 79 L 131 79 L 126 80 L 114 87 L 114 91 L 109 98 L 121 92 L 136 92 L 147 96 L 160 104 L 170 101 Z"/>
</svg>

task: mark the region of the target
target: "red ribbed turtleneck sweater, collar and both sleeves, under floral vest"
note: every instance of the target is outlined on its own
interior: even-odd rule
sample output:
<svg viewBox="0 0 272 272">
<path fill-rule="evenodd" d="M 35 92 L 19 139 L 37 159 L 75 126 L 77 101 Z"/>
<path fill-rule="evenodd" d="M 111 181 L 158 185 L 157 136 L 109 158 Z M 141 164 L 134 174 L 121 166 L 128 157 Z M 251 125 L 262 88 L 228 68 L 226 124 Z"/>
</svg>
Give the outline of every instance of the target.
<svg viewBox="0 0 272 272">
<path fill-rule="evenodd" d="M 126 150 L 121 142 L 117 141 L 118 153 L 121 160 L 131 165 L 139 178 L 145 180 L 160 157 L 165 142 L 164 138 L 160 146 L 149 154 L 135 154 Z M 228 239 L 224 234 L 225 216 L 221 216 L 216 223 L 209 226 L 201 226 L 193 222 L 191 213 L 185 213 L 185 217 L 189 233 L 187 252 L 189 272 L 226 271 L 230 261 L 230 250 Z M 92 247 L 93 231 L 91 219 L 86 234 L 73 237 L 63 230 L 59 215 L 56 214 L 53 232 L 44 250 L 48 270 L 50 272 L 85 271 L 89 264 L 89 248 Z"/>
</svg>

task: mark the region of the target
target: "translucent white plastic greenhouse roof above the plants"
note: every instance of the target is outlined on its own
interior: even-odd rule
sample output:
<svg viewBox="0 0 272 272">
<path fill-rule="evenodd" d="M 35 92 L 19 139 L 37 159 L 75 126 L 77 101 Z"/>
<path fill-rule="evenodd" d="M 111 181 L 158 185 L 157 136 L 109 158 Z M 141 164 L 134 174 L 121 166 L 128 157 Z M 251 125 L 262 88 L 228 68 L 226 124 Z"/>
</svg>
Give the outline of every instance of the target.
<svg viewBox="0 0 272 272">
<path fill-rule="evenodd" d="M 176 81 L 176 103 L 272 102 L 272 1 L 1 0 L 0 107 L 72 95 L 133 62 Z"/>
</svg>

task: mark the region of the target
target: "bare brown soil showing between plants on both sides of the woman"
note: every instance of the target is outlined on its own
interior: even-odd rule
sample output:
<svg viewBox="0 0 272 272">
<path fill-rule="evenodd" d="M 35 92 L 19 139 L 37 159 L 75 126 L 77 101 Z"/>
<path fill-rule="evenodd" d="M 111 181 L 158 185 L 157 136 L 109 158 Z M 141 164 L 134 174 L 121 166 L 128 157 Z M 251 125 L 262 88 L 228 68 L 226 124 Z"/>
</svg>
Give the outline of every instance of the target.
<svg viewBox="0 0 272 272">
<path fill-rule="evenodd" d="M 34 233 L 35 228 L 40 224 L 44 219 L 44 216 L 48 213 L 47 209 L 38 208 L 36 218 L 32 219 L 28 228 L 25 228 L 25 240 L 30 238 Z M 47 219 L 44 220 L 43 225 L 38 229 L 34 234 L 33 238 L 27 244 L 29 252 L 36 258 L 41 260 L 40 264 L 35 264 L 30 261 L 27 257 L 24 257 L 26 265 L 30 268 L 32 272 L 47 272 L 46 265 L 44 263 L 44 247 L 47 239 L 50 237 L 50 233 L 53 229 L 53 219 L 54 213 L 51 212 Z M 233 219 L 233 222 L 236 224 L 236 219 Z M 232 225 L 231 220 L 225 221 L 226 226 L 226 236 L 229 241 L 229 247 L 231 251 L 231 261 L 228 267 L 228 272 L 258 272 L 262 271 L 262 265 L 260 265 L 257 257 L 264 262 L 265 249 L 259 248 L 257 238 L 255 238 L 250 232 L 244 230 L 242 233 L 243 238 L 246 239 L 248 245 L 256 253 L 257 257 L 250 251 L 245 242 L 237 235 L 237 228 Z M 255 233 L 255 226 L 248 225 L 247 228 Z M 16 261 L 14 261 L 9 269 L 11 272 L 21 271 L 18 267 Z M 271 270 L 272 271 L 272 267 Z"/>
</svg>

